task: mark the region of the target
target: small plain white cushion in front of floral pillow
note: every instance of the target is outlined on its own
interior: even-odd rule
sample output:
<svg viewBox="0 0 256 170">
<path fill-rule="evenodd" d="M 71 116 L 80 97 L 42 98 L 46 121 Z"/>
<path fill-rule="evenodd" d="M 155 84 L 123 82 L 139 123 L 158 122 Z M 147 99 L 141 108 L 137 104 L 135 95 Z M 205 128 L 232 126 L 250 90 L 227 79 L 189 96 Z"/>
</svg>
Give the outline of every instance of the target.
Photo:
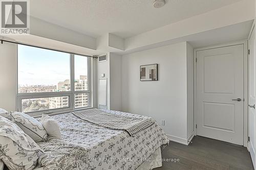
<svg viewBox="0 0 256 170">
<path fill-rule="evenodd" d="M 49 137 L 61 139 L 61 133 L 57 121 L 49 115 L 42 114 L 41 124 L 46 129 Z"/>
</svg>

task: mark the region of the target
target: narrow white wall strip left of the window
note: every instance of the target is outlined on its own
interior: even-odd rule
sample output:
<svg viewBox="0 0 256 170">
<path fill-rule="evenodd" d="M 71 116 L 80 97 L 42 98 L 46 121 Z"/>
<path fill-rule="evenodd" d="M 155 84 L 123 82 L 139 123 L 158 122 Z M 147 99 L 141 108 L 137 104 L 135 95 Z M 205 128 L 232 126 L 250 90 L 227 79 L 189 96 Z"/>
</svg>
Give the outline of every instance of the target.
<svg viewBox="0 0 256 170">
<path fill-rule="evenodd" d="M 0 43 L 0 108 L 15 111 L 17 45 Z"/>
</svg>

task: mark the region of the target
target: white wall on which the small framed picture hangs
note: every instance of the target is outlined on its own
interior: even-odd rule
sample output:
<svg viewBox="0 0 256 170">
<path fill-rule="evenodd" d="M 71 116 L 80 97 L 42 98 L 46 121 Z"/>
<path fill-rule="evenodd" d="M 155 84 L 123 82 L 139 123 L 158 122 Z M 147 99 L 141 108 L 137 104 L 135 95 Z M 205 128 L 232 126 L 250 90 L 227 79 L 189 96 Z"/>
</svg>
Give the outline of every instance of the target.
<svg viewBox="0 0 256 170">
<path fill-rule="evenodd" d="M 187 93 L 191 95 L 187 78 L 189 86 L 193 80 L 190 77 L 193 60 L 190 55 L 187 57 L 187 46 L 191 52 L 191 47 L 182 42 L 122 56 L 122 110 L 151 116 L 158 123 L 164 119 L 165 133 L 184 143 L 187 132 L 191 131 L 187 130 L 187 111 L 193 107 L 190 102 L 187 105 L 193 99 L 193 96 L 187 98 Z M 159 81 L 140 82 L 139 66 L 155 63 L 159 64 Z M 189 119 L 190 113 L 193 109 L 189 111 Z"/>
</svg>

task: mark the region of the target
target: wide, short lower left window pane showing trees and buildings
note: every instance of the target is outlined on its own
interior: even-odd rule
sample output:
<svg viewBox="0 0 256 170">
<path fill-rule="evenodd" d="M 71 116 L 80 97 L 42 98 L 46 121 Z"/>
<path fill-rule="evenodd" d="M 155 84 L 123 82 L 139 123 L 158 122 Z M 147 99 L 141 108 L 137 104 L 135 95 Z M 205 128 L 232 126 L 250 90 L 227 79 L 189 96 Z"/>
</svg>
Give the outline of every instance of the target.
<svg viewBox="0 0 256 170">
<path fill-rule="evenodd" d="M 69 107 L 69 96 L 22 99 L 22 111 L 34 112 Z"/>
</svg>

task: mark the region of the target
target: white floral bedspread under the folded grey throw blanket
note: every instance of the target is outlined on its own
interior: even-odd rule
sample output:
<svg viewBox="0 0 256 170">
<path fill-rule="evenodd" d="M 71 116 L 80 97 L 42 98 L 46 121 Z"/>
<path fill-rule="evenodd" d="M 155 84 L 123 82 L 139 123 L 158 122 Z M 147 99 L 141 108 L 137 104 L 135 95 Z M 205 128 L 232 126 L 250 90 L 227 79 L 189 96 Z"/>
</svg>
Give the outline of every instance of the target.
<svg viewBox="0 0 256 170">
<path fill-rule="evenodd" d="M 104 110 L 105 112 L 146 119 L 131 113 Z M 86 162 L 90 170 L 136 169 L 159 147 L 169 140 L 155 123 L 134 137 L 123 130 L 111 130 L 82 120 L 72 113 L 53 116 L 60 128 L 62 140 L 79 144 L 88 150 Z M 41 142 L 42 143 L 42 142 Z M 80 158 L 84 161 L 84 158 Z"/>
</svg>

